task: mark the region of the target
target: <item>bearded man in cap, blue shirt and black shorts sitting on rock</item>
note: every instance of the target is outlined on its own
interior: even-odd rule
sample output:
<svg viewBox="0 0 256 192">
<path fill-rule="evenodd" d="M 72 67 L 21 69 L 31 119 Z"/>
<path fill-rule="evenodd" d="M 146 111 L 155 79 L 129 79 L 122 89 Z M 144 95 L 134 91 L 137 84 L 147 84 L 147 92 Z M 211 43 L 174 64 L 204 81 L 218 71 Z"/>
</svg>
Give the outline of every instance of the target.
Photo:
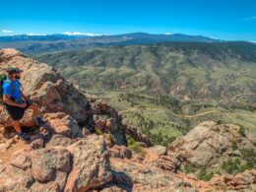
<svg viewBox="0 0 256 192">
<path fill-rule="evenodd" d="M 21 78 L 19 68 L 11 67 L 7 69 L 8 77 L 3 83 L 3 102 L 5 107 L 13 119 L 13 126 L 20 138 L 31 141 L 31 136 L 22 132 L 20 120 L 23 118 L 27 109 L 32 109 L 36 125 L 41 126 L 44 121 L 39 117 L 39 108 L 28 96 L 22 92 L 19 79 Z"/>
</svg>

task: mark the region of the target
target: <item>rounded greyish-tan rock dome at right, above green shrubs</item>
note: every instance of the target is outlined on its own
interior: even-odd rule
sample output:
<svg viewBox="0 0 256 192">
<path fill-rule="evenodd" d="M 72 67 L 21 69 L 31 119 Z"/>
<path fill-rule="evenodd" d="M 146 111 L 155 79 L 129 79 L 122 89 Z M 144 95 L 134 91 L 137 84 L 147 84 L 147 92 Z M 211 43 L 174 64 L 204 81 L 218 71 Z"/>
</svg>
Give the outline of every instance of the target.
<svg viewBox="0 0 256 192">
<path fill-rule="evenodd" d="M 256 138 L 238 125 L 217 124 L 214 121 L 200 123 L 187 135 L 175 140 L 169 152 L 180 156 L 198 167 L 212 166 L 222 162 L 237 149 L 255 149 Z"/>
</svg>

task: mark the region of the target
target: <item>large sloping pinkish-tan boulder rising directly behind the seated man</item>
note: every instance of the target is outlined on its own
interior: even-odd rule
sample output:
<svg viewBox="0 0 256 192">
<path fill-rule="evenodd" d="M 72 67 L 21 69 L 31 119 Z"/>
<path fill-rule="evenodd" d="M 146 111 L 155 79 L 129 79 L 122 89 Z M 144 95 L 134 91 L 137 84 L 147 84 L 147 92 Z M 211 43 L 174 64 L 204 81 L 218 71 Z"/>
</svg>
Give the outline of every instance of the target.
<svg viewBox="0 0 256 192">
<path fill-rule="evenodd" d="M 78 123 L 87 120 L 85 110 L 90 107 L 88 99 L 57 71 L 27 58 L 15 49 L 3 49 L 0 51 L 0 72 L 4 72 L 8 66 L 24 70 L 21 78 L 22 84 L 26 85 L 24 92 L 41 106 L 43 113 L 65 112 Z M 8 126 L 10 121 L 5 118 L 1 124 Z"/>
</svg>

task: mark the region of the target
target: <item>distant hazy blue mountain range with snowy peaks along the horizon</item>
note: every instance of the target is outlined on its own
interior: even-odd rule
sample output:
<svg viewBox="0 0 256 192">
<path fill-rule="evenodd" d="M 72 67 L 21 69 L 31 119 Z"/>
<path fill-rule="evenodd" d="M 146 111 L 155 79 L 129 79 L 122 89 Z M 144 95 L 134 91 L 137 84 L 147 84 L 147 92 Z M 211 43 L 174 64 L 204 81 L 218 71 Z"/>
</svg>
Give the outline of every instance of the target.
<svg viewBox="0 0 256 192">
<path fill-rule="evenodd" d="M 150 34 L 133 32 L 113 35 L 13 35 L 0 36 L 0 48 L 17 48 L 27 54 L 41 54 L 52 51 L 75 50 L 95 46 L 152 44 L 173 41 L 219 42 L 221 40 L 182 33 Z"/>
</svg>

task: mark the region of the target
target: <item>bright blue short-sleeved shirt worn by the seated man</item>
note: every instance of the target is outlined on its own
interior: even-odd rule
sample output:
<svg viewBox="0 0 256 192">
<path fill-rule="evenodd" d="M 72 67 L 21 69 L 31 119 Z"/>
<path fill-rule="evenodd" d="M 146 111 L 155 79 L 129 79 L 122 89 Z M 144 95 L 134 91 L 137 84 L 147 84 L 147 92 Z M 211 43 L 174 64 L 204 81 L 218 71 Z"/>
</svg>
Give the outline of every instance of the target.
<svg viewBox="0 0 256 192">
<path fill-rule="evenodd" d="M 3 84 L 3 95 L 11 96 L 11 98 L 20 104 L 23 103 L 21 83 L 19 80 L 12 81 L 11 79 L 7 78 Z"/>
</svg>

